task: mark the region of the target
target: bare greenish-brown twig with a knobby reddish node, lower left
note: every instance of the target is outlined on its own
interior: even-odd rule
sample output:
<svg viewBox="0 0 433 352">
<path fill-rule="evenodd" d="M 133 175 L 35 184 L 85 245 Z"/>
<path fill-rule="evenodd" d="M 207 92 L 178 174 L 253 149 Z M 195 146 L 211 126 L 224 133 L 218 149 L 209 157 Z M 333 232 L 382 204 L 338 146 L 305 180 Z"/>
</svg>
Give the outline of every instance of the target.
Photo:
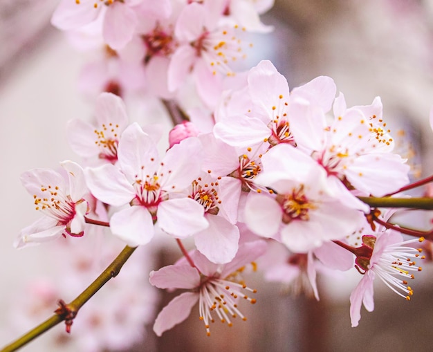
<svg viewBox="0 0 433 352">
<path fill-rule="evenodd" d="M 131 257 L 131 254 L 133 251 L 136 250 L 135 248 L 126 246 L 122 252 L 114 259 L 109 266 L 102 272 L 101 275 L 99 275 L 95 281 L 93 281 L 89 287 L 87 287 L 77 298 L 75 298 L 71 303 L 64 304 L 64 306 L 67 308 L 68 313 L 73 315 L 77 314 L 77 312 L 80 310 L 80 308 L 87 302 L 89 299 L 95 295 L 95 293 L 104 286 L 104 284 L 107 284 L 107 282 L 118 275 L 120 272 L 120 269 L 125 264 L 125 262 Z M 48 331 L 50 328 L 53 328 L 53 326 L 56 326 L 60 322 L 64 321 L 65 319 L 68 319 L 68 317 L 60 313 L 61 310 L 57 309 L 57 314 L 53 315 L 49 319 L 47 319 L 45 322 L 42 322 L 32 330 L 28 331 L 28 333 L 22 335 L 14 342 L 8 344 L 7 346 L 3 347 L 0 352 L 12 352 L 17 351 L 17 349 L 20 349 L 22 346 L 28 344 L 28 342 L 34 340 L 39 335 L 42 335 L 46 331 Z M 67 322 L 66 322 L 67 323 Z M 69 322 L 69 328 L 71 327 L 72 322 Z M 68 324 L 66 324 L 66 329 L 68 329 Z"/>
</svg>

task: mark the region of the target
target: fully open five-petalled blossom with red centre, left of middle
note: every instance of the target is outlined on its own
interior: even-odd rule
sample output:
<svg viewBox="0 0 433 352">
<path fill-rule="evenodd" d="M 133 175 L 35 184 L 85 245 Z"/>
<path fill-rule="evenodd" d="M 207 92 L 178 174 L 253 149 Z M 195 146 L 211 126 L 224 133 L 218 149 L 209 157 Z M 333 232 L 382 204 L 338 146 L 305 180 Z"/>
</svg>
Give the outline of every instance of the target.
<svg viewBox="0 0 433 352">
<path fill-rule="evenodd" d="M 130 246 L 148 243 L 154 237 L 154 223 L 175 237 L 184 238 L 208 228 L 204 210 L 181 192 L 199 175 L 201 143 L 188 138 L 167 151 L 158 161 L 154 141 L 137 123 L 122 133 L 118 167 L 106 164 L 86 169 L 86 180 L 96 198 L 120 207 L 111 216 L 113 234 Z"/>
</svg>

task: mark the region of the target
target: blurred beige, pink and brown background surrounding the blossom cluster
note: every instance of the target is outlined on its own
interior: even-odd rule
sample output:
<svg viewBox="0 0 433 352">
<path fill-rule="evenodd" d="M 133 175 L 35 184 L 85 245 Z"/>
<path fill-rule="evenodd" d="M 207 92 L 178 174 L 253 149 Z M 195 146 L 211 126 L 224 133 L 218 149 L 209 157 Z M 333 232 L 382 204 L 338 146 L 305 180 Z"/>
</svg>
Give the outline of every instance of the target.
<svg viewBox="0 0 433 352">
<path fill-rule="evenodd" d="M 77 91 L 77 77 L 88 58 L 49 24 L 57 2 L 0 3 L 1 346 L 26 331 L 11 324 L 14 300 L 21 299 L 23 306 L 32 295 L 26 283 L 38 275 L 49 277 L 57 266 L 44 246 L 12 248 L 19 230 L 39 217 L 19 175 L 34 167 L 55 168 L 60 160 L 77 160 L 65 142 L 66 122 L 89 118 L 93 111 Z M 348 106 L 371 104 L 380 95 L 391 132 L 401 137 L 400 147 L 412 156 L 414 177 L 432 174 L 428 116 L 433 104 L 433 1 L 276 0 L 262 21 L 275 26 L 275 32 L 252 39 L 251 66 L 271 59 L 291 88 L 329 75 Z M 432 218 L 424 212 L 414 219 L 417 228 L 427 228 Z M 172 263 L 177 251 L 160 246 L 146 267 Z M 423 269 L 411 302 L 377 282 L 375 311 L 363 309 L 357 328 L 350 326 L 349 295 L 359 276 L 349 272 L 319 277 L 321 299 L 316 302 L 288 295 L 257 273 L 248 277 L 248 286 L 259 292 L 255 306 L 242 308 L 247 322 L 232 328 L 215 324 L 212 336 L 206 337 L 193 309 L 187 322 L 163 337 L 142 326 L 144 340 L 116 351 L 431 351 L 433 269 L 427 262 Z M 77 293 L 62 298 L 68 301 Z M 156 312 L 173 295 L 161 297 Z M 63 331 L 63 325 L 56 326 L 22 351 L 84 351 L 74 344 L 53 344 L 53 335 Z"/>
</svg>

